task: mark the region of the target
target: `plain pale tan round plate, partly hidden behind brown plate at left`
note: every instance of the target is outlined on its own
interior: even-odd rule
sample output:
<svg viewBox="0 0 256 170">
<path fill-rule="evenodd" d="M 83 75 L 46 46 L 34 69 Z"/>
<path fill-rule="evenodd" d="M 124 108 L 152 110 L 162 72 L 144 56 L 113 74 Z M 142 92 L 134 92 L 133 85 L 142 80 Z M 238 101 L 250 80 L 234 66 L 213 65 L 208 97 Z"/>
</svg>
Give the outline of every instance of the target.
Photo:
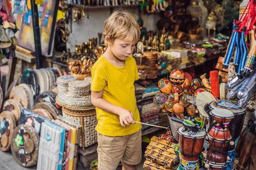
<svg viewBox="0 0 256 170">
<path fill-rule="evenodd" d="M 16 86 L 10 94 L 9 99 L 15 99 L 18 102 L 21 103 L 21 105 L 24 108 L 29 108 L 30 107 L 30 99 L 28 98 L 29 94 L 28 91 L 26 91 L 23 87 L 21 86 Z"/>
</svg>

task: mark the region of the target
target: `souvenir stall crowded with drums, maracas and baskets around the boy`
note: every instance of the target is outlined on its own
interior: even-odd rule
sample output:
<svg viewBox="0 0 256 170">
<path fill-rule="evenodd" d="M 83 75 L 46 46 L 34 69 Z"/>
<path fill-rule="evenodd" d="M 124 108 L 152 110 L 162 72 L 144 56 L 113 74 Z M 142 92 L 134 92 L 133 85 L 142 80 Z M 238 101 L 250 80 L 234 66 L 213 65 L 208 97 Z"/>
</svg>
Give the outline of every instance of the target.
<svg viewBox="0 0 256 170">
<path fill-rule="evenodd" d="M 0 152 L 15 164 L 97 169 L 90 71 L 107 46 L 103 28 L 87 24 L 84 37 L 78 30 L 93 10 L 126 6 L 136 8 L 141 29 L 131 54 L 148 139 L 138 168 L 256 169 L 254 0 L 0 1 L 1 59 L 35 62 L 0 86 Z"/>
</svg>

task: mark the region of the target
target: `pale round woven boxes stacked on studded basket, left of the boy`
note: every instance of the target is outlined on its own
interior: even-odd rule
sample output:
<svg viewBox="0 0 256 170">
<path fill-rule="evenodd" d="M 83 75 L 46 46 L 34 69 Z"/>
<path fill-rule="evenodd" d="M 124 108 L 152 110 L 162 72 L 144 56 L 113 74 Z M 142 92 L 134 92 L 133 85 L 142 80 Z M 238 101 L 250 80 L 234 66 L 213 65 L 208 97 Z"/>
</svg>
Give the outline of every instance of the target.
<svg viewBox="0 0 256 170">
<path fill-rule="evenodd" d="M 60 82 L 62 82 L 65 77 L 60 79 Z M 81 125 L 82 134 L 79 145 L 83 148 L 83 151 L 85 147 L 97 142 L 96 111 L 91 102 L 89 88 L 90 83 L 84 80 L 69 81 L 68 91 L 58 90 L 58 96 L 56 97 L 56 102 L 62 106 L 63 117 Z"/>
</svg>

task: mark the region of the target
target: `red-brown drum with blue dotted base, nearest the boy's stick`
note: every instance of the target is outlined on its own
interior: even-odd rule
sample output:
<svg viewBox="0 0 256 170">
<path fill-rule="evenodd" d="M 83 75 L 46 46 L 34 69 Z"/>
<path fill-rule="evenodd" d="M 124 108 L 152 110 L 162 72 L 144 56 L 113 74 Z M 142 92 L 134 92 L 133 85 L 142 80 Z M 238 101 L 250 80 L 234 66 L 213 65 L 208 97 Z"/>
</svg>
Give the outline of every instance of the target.
<svg viewBox="0 0 256 170">
<path fill-rule="evenodd" d="M 183 127 L 178 130 L 179 147 L 181 152 L 178 170 L 199 170 L 198 156 L 201 153 L 206 131 L 197 131 L 195 135 L 188 135 L 189 129 L 182 132 Z"/>
</svg>

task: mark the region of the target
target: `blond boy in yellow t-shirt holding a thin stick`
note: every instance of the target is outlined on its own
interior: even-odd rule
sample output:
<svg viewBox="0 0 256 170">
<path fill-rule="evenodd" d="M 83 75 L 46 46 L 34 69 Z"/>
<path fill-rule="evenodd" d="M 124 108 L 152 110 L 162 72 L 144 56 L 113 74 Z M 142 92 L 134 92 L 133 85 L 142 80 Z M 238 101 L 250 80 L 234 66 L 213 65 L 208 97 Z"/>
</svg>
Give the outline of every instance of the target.
<svg viewBox="0 0 256 170">
<path fill-rule="evenodd" d="M 105 21 L 105 53 L 93 65 L 91 100 L 98 124 L 98 168 L 135 170 L 141 161 L 141 125 L 134 81 L 139 79 L 135 59 L 130 56 L 140 37 L 137 17 L 117 9 Z"/>
</svg>

